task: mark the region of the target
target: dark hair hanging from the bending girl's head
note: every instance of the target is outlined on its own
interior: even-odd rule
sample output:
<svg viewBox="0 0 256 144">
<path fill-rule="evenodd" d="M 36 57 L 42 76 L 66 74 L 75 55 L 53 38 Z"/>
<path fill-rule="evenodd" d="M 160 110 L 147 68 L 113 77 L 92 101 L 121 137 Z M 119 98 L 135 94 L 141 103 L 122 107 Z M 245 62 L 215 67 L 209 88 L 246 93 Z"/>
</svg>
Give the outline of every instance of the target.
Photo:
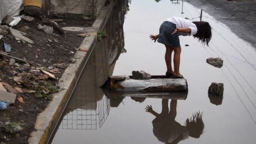
<svg viewBox="0 0 256 144">
<path fill-rule="evenodd" d="M 210 42 L 212 38 L 212 28 L 208 22 L 205 21 L 193 21 L 197 27 L 197 33 L 194 37 L 198 38 L 198 41 L 201 41 L 202 44 L 206 44 Z"/>
</svg>

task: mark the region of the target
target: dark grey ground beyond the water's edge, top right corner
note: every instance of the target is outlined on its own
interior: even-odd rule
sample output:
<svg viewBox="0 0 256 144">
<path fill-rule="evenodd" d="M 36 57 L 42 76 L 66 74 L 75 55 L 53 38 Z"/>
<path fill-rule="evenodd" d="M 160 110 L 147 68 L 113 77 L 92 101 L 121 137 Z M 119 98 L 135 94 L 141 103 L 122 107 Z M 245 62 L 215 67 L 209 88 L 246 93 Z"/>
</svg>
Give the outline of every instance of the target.
<svg viewBox="0 0 256 144">
<path fill-rule="evenodd" d="M 199 9 L 225 23 L 238 37 L 256 49 L 256 1 L 255 0 L 186 0 Z"/>
</svg>

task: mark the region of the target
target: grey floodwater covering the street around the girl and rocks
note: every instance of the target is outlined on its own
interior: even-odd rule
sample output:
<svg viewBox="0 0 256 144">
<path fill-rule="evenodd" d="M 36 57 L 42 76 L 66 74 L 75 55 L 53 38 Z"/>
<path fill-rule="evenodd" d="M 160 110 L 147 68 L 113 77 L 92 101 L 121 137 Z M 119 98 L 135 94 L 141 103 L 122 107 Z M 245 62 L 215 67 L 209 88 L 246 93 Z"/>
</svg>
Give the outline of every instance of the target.
<svg viewBox="0 0 256 144">
<path fill-rule="evenodd" d="M 100 88 L 108 76 L 132 75 L 133 70 L 164 75 L 165 47 L 149 35 L 158 34 L 161 23 L 170 17 L 199 21 L 201 11 L 186 2 L 182 10 L 182 1 L 137 0 L 126 6 L 127 2 L 120 2 L 110 15 L 107 38 L 94 47 L 52 143 L 163 143 L 171 138 L 178 143 L 255 143 L 256 49 L 205 12 L 202 21 L 212 27 L 209 46 L 192 36 L 180 36 L 180 73 L 188 82 L 188 93 L 177 96 L 182 100 L 109 99 Z M 223 67 L 206 63 L 210 57 L 222 58 Z M 208 96 L 212 82 L 223 83 L 223 98 Z M 175 129 L 158 129 L 156 120 L 152 123 L 156 116 L 145 110 L 147 105 L 158 114 L 166 106 L 177 110 L 175 121 L 161 122 Z M 189 137 L 186 119 L 198 111 L 203 115 L 203 133 Z"/>
</svg>

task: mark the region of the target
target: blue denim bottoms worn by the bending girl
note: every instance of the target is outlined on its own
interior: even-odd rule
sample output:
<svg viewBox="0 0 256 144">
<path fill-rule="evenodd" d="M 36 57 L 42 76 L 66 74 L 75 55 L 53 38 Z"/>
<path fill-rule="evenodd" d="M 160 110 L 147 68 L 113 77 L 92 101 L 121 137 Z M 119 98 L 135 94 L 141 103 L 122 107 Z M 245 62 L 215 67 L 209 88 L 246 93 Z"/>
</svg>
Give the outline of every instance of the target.
<svg viewBox="0 0 256 144">
<path fill-rule="evenodd" d="M 164 21 L 159 28 L 159 38 L 157 39 L 157 42 L 172 47 L 180 47 L 178 34 L 172 34 L 176 28 L 174 23 Z"/>
</svg>

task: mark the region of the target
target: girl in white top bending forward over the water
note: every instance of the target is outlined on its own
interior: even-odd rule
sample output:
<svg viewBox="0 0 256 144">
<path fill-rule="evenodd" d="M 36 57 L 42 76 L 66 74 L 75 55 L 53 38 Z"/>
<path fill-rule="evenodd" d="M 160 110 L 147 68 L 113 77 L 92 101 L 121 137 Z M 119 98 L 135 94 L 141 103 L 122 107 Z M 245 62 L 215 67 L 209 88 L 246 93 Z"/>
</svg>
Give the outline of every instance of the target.
<svg viewBox="0 0 256 144">
<path fill-rule="evenodd" d="M 164 21 L 159 28 L 159 34 L 150 35 L 150 38 L 156 42 L 165 45 L 165 63 L 167 66 L 166 76 L 169 78 L 183 78 L 180 74 L 180 40 L 179 36 L 191 36 L 198 38 L 202 44 L 208 45 L 212 37 L 212 28 L 208 22 L 194 21 L 172 17 Z M 174 52 L 174 70 L 172 70 L 172 52 Z"/>
</svg>

